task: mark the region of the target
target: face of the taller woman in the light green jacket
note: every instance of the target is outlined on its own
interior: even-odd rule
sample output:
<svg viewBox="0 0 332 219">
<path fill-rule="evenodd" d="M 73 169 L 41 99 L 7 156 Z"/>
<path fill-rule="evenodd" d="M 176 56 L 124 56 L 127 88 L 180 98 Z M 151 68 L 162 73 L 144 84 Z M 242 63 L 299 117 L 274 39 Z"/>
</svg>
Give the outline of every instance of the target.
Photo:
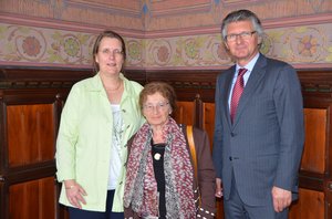
<svg viewBox="0 0 332 219">
<path fill-rule="evenodd" d="M 122 43 L 115 38 L 103 38 L 95 55 L 101 74 L 118 74 L 124 63 Z"/>
</svg>

